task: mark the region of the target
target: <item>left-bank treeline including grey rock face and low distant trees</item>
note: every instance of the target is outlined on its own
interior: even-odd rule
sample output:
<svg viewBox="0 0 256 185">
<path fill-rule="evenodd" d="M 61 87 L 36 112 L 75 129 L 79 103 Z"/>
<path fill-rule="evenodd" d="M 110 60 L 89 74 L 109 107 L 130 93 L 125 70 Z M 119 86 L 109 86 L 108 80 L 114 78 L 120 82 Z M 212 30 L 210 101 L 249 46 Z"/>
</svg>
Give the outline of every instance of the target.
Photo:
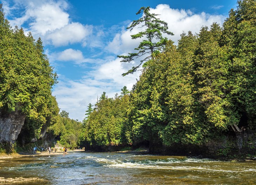
<svg viewBox="0 0 256 185">
<path fill-rule="evenodd" d="M 12 28 L 0 4 L 0 152 L 10 152 L 16 140 L 23 148 L 54 140 L 78 147 L 82 124 L 65 111 L 59 114 L 52 95 L 57 78 L 41 38 L 35 41 L 31 33 Z"/>
</svg>

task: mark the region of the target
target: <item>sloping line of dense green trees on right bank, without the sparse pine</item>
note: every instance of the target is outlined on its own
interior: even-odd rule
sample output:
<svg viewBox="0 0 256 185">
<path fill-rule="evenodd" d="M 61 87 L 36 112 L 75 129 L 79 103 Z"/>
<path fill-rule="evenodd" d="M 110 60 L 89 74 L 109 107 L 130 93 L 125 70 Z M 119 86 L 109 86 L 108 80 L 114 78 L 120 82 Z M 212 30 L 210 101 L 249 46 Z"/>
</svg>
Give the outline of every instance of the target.
<svg viewBox="0 0 256 185">
<path fill-rule="evenodd" d="M 201 145 L 256 126 L 256 1 L 222 27 L 182 33 L 143 66 L 131 93 L 100 98 L 85 121 L 90 145 Z"/>
</svg>

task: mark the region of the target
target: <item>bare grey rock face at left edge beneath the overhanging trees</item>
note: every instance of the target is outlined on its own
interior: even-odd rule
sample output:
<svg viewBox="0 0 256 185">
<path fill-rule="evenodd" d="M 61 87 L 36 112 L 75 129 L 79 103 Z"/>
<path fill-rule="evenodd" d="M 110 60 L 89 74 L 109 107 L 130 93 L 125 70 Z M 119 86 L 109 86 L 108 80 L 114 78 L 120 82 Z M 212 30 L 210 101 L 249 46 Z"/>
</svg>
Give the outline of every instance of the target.
<svg viewBox="0 0 256 185">
<path fill-rule="evenodd" d="M 14 143 L 24 124 L 26 115 L 19 112 L 5 112 L 0 109 L 0 142 Z"/>
</svg>

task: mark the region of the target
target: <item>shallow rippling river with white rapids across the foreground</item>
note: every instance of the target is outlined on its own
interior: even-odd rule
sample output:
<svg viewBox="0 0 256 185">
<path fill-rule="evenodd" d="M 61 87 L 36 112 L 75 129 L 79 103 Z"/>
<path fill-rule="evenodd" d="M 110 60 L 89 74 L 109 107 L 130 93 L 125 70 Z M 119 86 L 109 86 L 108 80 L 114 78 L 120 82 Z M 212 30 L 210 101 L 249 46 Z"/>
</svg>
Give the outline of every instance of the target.
<svg viewBox="0 0 256 185">
<path fill-rule="evenodd" d="M 2 182 L 12 185 L 255 185 L 256 162 L 70 152 L 1 159 L 1 178 L 16 178 Z"/>
</svg>

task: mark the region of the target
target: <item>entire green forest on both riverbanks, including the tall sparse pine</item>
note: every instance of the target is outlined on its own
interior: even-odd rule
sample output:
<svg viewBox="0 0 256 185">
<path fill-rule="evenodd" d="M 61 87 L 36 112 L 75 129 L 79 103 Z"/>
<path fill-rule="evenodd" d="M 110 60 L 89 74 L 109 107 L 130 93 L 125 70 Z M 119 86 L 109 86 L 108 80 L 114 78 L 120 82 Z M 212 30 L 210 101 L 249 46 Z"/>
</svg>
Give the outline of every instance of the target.
<svg viewBox="0 0 256 185">
<path fill-rule="evenodd" d="M 118 56 L 139 57 L 123 76 L 141 70 L 140 78 L 121 95 L 103 92 L 82 122 L 60 112 L 52 96 L 58 77 L 41 39 L 12 28 L 0 8 L 1 151 L 48 141 L 94 151 L 146 146 L 153 153 L 255 155 L 255 0 L 238 0 L 223 25 L 181 33 L 177 45 L 162 36 L 172 34 L 168 25 L 142 7 L 137 14 L 144 16 L 127 29 L 143 24 L 132 38 L 145 40 L 137 53 Z M 18 134 L 6 134 L 10 119 Z"/>
</svg>

